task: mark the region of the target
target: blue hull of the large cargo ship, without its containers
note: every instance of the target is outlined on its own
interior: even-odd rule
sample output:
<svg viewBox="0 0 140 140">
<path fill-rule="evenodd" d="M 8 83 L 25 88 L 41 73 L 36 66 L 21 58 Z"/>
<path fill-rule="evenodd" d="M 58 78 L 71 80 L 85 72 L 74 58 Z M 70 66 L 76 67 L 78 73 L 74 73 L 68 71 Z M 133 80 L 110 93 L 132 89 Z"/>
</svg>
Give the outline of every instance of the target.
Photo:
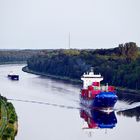
<svg viewBox="0 0 140 140">
<path fill-rule="evenodd" d="M 114 92 L 100 92 L 94 99 L 80 98 L 81 104 L 91 109 L 112 109 L 117 102 L 117 95 Z"/>
</svg>

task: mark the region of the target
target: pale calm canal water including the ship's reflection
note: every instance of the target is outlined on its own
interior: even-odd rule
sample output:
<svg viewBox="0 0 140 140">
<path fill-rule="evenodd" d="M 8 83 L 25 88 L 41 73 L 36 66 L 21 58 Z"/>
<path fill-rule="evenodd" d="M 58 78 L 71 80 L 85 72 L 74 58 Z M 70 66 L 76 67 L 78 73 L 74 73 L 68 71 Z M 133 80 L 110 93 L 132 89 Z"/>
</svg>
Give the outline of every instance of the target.
<svg viewBox="0 0 140 140">
<path fill-rule="evenodd" d="M 120 96 L 112 115 L 90 112 L 79 105 L 79 85 L 22 72 L 23 66 L 0 66 L 0 93 L 18 115 L 16 140 L 140 139 L 140 102 L 134 96 Z M 7 78 L 11 71 L 19 81 Z"/>
</svg>

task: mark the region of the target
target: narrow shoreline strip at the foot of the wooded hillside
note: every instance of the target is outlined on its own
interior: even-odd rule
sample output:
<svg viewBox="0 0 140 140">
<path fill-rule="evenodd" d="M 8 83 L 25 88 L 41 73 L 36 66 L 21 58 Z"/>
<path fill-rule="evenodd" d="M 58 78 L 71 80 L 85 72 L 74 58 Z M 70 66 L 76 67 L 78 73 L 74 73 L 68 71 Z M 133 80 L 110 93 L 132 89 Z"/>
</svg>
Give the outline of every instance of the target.
<svg viewBox="0 0 140 140">
<path fill-rule="evenodd" d="M 46 77 L 53 78 L 53 79 L 68 81 L 68 82 L 72 82 L 72 83 L 79 84 L 79 85 L 82 84 L 81 80 L 70 79 L 68 77 L 54 76 L 54 75 L 49 75 L 49 74 L 45 74 L 45 73 L 41 73 L 41 72 L 36 72 L 33 70 L 29 70 L 27 66 L 23 67 L 22 70 L 24 72 L 31 73 L 31 74 L 36 74 L 36 75 L 46 76 Z M 116 87 L 116 90 L 117 90 L 117 92 L 123 92 L 123 93 L 129 93 L 129 94 L 139 94 L 140 95 L 139 90 L 126 89 L 126 88 L 122 88 L 122 87 Z"/>
</svg>

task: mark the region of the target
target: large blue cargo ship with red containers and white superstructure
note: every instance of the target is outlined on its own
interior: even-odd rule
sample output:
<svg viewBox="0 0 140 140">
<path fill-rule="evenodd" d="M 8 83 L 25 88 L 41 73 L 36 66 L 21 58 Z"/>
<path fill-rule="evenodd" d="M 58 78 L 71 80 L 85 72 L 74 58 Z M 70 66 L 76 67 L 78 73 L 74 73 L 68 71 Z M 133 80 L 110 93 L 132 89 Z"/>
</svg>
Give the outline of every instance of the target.
<svg viewBox="0 0 140 140">
<path fill-rule="evenodd" d="M 95 74 L 93 68 L 81 77 L 83 87 L 80 94 L 80 103 L 90 109 L 113 110 L 117 102 L 114 86 L 101 86 L 103 80 L 101 74 Z"/>
</svg>

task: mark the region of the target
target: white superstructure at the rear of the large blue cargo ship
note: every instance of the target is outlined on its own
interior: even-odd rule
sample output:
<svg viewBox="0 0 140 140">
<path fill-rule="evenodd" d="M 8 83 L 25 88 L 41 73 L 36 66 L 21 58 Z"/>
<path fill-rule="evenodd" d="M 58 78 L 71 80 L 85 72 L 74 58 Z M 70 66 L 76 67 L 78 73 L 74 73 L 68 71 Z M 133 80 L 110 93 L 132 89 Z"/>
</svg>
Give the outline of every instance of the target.
<svg viewBox="0 0 140 140">
<path fill-rule="evenodd" d="M 83 74 L 81 80 L 83 81 L 83 89 L 87 89 L 88 86 L 93 84 L 93 82 L 100 83 L 103 80 L 103 77 L 101 74 L 94 74 L 93 68 L 91 68 L 89 73 L 87 72 Z"/>
</svg>

